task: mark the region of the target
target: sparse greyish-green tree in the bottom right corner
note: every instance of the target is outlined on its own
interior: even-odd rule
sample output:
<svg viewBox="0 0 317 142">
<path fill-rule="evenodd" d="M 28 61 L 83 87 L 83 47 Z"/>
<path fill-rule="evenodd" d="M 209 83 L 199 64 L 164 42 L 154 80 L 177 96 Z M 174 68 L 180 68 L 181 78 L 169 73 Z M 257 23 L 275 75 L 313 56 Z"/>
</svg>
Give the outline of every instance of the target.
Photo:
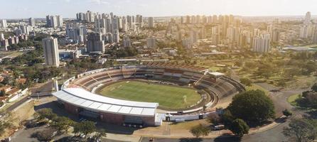
<svg viewBox="0 0 317 142">
<path fill-rule="evenodd" d="M 283 134 L 294 137 L 296 142 L 313 141 L 317 136 L 316 123 L 308 119 L 293 119 L 289 126 L 284 128 Z"/>
</svg>

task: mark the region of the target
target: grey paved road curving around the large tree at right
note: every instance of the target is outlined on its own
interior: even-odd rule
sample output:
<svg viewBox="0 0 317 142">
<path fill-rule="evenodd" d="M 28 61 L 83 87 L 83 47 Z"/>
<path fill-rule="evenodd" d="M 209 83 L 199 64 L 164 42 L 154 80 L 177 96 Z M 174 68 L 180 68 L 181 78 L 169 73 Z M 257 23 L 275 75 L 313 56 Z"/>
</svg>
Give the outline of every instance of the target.
<svg viewBox="0 0 317 142">
<path fill-rule="evenodd" d="M 258 84 L 259 86 L 263 87 L 267 90 L 277 89 L 276 87 L 261 83 Z M 286 99 L 293 95 L 293 94 L 299 94 L 303 91 L 306 91 L 307 89 L 289 89 L 289 90 L 282 90 L 281 92 L 270 92 L 269 97 L 274 102 L 274 107 L 276 111 L 276 116 L 281 116 L 281 111 L 284 109 L 289 109 L 293 111 L 295 116 L 300 116 L 303 114 L 300 110 L 295 110 L 293 107 L 291 107 L 291 104 L 289 104 Z M 277 126 L 274 126 L 272 129 L 268 129 L 266 131 L 262 131 L 259 133 L 249 134 L 244 136 L 241 140 L 234 138 L 234 137 L 218 137 L 218 138 L 154 138 L 154 141 L 156 142 L 235 142 L 235 141 L 247 141 L 247 142 L 284 142 L 288 141 L 288 139 L 283 135 L 282 131 L 284 127 L 289 125 L 289 120 L 281 123 Z M 149 138 L 142 138 L 142 142 L 149 141 Z"/>
</svg>

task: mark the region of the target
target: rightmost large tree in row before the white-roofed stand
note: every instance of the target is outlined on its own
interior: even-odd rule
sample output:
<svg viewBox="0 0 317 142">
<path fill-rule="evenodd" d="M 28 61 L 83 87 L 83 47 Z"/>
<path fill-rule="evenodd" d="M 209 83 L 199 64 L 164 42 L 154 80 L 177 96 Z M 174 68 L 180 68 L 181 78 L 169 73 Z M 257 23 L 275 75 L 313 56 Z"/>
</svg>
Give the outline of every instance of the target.
<svg viewBox="0 0 317 142">
<path fill-rule="evenodd" d="M 96 129 L 95 123 L 93 121 L 81 121 L 75 124 L 74 133 L 84 133 L 87 134 L 94 132 Z"/>
</svg>

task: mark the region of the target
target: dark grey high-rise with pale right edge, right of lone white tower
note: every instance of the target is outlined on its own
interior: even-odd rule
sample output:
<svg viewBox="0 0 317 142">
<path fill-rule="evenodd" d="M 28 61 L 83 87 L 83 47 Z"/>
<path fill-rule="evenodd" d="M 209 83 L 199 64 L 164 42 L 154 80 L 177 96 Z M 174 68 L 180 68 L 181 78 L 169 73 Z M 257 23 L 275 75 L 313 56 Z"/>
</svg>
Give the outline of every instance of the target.
<svg viewBox="0 0 317 142">
<path fill-rule="evenodd" d="M 102 40 L 102 35 L 97 32 L 88 33 L 87 43 L 86 43 L 87 52 L 104 52 L 104 40 Z"/>
</svg>

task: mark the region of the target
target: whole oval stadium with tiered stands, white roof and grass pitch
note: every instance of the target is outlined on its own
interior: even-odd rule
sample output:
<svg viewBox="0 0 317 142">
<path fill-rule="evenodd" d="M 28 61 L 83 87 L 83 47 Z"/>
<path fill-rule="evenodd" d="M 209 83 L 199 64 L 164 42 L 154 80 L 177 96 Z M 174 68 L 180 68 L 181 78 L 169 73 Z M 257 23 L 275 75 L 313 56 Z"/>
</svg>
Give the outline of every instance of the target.
<svg viewBox="0 0 317 142">
<path fill-rule="evenodd" d="M 204 67 L 150 62 L 82 73 L 53 96 L 70 114 L 144 127 L 204 119 L 220 99 L 243 91 L 239 82 Z"/>
</svg>

